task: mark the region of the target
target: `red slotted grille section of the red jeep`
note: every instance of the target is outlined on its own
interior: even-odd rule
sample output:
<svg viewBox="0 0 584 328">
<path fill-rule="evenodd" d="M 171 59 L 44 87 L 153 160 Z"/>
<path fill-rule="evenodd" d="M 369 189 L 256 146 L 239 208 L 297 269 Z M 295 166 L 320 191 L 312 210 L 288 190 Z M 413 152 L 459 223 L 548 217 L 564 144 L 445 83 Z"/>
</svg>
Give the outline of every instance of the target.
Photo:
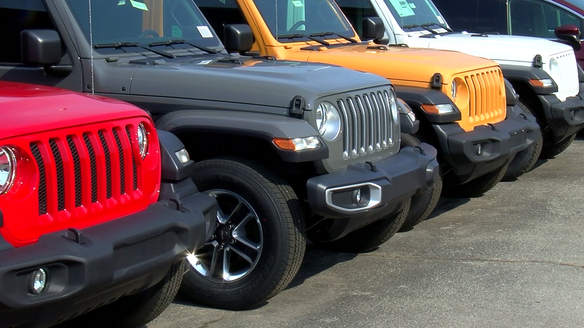
<svg viewBox="0 0 584 328">
<path fill-rule="evenodd" d="M 126 130 L 130 131 L 130 127 L 115 126 L 66 138 L 51 138 L 48 142 L 31 142 L 30 151 L 39 168 L 39 215 L 54 215 L 99 200 L 120 200 L 126 190 L 137 190 L 134 147 L 131 134 L 124 133 Z M 51 175 L 47 170 L 53 171 L 55 181 L 47 180 L 47 175 Z M 86 179 L 82 174 L 84 170 L 91 172 Z M 74 174 L 69 174 L 71 172 Z M 126 179 L 126 172 L 133 172 L 130 179 Z M 69 184 L 75 188 L 67 188 Z M 91 186 L 88 192 L 91 198 L 84 197 L 87 189 L 82 186 Z M 54 190 L 56 194 L 47 194 L 47 190 Z"/>
</svg>

